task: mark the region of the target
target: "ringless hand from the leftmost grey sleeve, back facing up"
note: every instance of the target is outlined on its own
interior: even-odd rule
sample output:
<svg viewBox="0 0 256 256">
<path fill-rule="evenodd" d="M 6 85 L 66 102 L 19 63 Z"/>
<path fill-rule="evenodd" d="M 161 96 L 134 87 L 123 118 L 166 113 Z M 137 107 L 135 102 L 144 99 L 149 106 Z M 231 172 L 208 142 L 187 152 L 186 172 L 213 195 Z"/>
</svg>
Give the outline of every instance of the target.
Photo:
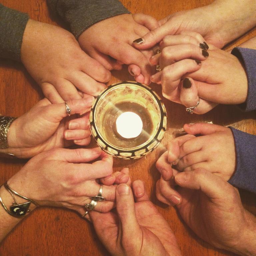
<svg viewBox="0 0 256 256">
<path fill-rule="evenodd" d="M 21 45 L 21 60 L 51 103 L 97 96 L 111 74 L 79 47 L 68 31 L 29 20 Z"/>
</svg>

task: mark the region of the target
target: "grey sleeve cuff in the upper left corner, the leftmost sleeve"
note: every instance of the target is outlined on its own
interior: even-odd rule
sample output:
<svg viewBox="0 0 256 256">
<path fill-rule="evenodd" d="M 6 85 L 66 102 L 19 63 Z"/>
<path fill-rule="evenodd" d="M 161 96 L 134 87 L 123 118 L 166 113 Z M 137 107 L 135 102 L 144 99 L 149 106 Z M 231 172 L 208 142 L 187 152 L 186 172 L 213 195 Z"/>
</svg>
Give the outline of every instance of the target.
<svg viewBox="0 0 256 256">
<path fill-rule="evenodd" d="M 29 16 L 0 4 L 0 57 L 20 61 L 22 37 Z"/>
</svg>

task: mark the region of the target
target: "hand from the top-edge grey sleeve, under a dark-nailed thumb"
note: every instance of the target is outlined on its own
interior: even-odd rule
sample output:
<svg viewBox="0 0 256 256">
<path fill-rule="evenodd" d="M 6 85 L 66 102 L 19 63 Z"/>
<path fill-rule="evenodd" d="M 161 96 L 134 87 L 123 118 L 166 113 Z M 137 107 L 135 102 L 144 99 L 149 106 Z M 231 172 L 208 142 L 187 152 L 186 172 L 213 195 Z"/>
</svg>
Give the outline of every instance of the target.
<svg viewBox="0 0 256 256">
<path fill-rule="evenodd" d="M 120 70 L 128 64 L 129 72 L 141 83 L 149 84 L 152 50 L 134 49 L 132 41 L 158 26 L 145 14 L 122 14 L 102 20 L 86 29 L 78 38 L 81 48 L 106 69 Z"/>
</svg>

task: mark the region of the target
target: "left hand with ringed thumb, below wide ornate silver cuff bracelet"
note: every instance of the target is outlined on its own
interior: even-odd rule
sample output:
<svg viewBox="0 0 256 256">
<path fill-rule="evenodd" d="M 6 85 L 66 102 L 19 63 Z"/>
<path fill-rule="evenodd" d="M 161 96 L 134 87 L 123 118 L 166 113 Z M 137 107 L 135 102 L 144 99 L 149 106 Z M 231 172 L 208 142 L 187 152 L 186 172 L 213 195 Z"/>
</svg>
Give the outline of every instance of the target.
<svg viewBox="0 0 256 256">
<path fill-rule="evenodd" d="M 8 133 L 9 148 L 1 149 L 0 152 L 30 158 L 52 148 L 69 147 L 73 144 L 72 140 L 77 145 L 88 145 L 91 135 L 89 115 L 87 113 L 76 118 L 73 114 L 87 112 L 93 100 L 94 97 L 88 96 L 68 101 L 71 117 L 67 117 L 65 103 L 51 104 L 46 98 L 40 100 L 11 123 Z M 75 119 L 70 120 L 72 117 Z"/>
</svg>

